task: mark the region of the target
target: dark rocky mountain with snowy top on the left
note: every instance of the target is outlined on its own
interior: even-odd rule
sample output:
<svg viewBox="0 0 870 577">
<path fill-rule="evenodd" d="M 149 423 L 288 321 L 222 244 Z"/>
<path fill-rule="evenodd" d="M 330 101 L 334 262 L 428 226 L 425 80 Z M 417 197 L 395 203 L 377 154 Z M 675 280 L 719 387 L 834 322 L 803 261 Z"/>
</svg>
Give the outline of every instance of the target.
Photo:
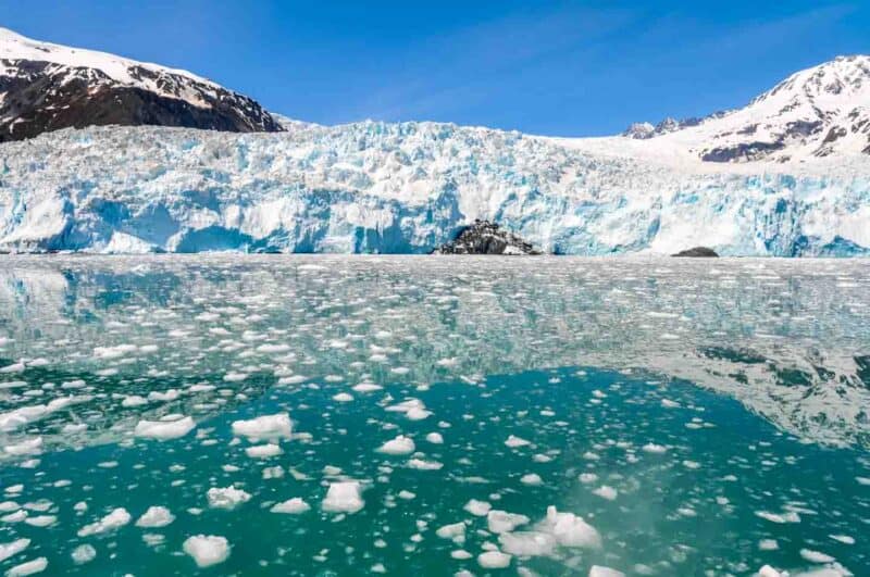
<svg viewBox="0 0 870 577">
<path fill-rule="evenodd" d="M 110 124 L 281 129 L 256 101 L 189 72 L 0 28 L 0 142 Z"/>
</svg>

